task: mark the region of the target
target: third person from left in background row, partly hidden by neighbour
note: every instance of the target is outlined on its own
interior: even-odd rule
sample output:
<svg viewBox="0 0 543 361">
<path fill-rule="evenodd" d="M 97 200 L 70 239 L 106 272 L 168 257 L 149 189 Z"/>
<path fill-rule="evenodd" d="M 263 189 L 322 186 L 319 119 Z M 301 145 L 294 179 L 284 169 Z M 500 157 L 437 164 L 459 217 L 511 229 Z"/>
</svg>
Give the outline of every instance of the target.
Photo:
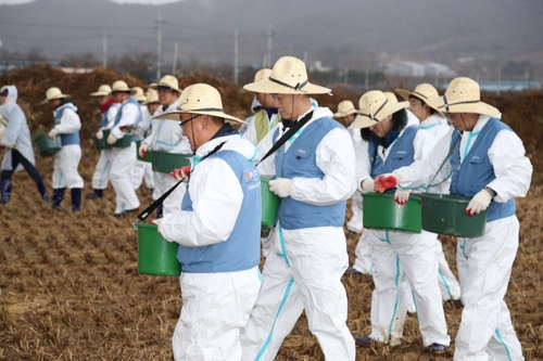
<svg viewBox="0 0 543 361">
<path fill-rule="evenodd" d="M 98 129 L 108 128 L 108 124 L 115 121 L 118 109 L 117 102 L 111 95 L 111 87 L 102 85 L 98 88 L 98 91 L 90 93 L 90 96 L 96 96 L 100 103 L 100 125 Z M 86 199 L 101 198 L 103 196 L 103 191 L 110 182 L 110 167 L 111 163 L 105 156 L 105 151 L 100 151 L 100 157 L 92 175 L 93 192 L 87 194 Z"/>
</svg>

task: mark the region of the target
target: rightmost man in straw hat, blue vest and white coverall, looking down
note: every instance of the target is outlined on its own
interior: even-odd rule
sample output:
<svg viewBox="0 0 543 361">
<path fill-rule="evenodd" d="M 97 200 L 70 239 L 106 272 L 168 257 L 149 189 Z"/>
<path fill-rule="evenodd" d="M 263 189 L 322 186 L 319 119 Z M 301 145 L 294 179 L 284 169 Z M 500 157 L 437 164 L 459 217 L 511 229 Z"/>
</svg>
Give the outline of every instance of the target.
<svg viewBox="0 0 543 361">
<path fill-rule="evenodd" d="M 515 198 L 526 196 L 532 166 L 522 141 L 498 120 L 500 111 L 480 101 L 476 81 L 456 78 L 443 96 L 427 104 L 443 112 L 453 128 L 426 162 L 415 162 L 382 179 L 393 178 L 400 186 L 411 188 L 428 184 L 435 175 L 435 181 L 451 177 L 451 194 L 471 198 L 466 212 L 488 209 L 484 234 L 458 238 L 464 310 L 454 360 L 523 360 L 504 296 L 518 249 Z"/>
</svg>

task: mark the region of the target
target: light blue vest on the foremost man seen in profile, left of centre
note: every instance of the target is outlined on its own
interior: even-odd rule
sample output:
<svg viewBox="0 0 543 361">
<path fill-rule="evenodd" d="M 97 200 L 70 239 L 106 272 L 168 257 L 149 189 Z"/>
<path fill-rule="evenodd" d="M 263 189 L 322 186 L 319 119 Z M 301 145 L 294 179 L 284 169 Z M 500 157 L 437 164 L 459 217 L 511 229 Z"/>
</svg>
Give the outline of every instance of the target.
<svg viewBox="0 0 543 361">
<path fill-rule="evenodd" d="M 261 260 L 261 177 L 254 165 L 235 151 L 220 151 L 209 157 L 225 160 L 233 170 L 243 191 L 243 202 L 230 236 L 204 247 L 179 246 L 177 260 L 186 273 L 217 273 L 249 270 Z M 220 181 L 217 179 L 217 181 Z M 192 211 L 187 190 L 181 210 Z"/>
</svg>

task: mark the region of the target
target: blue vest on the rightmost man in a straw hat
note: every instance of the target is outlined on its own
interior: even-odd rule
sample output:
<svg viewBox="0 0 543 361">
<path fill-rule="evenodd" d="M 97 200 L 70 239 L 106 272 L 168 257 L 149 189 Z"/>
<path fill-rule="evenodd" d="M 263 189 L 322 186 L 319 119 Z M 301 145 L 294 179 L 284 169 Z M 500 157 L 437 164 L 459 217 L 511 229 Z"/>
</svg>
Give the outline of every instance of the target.
<svg viewBox="0 0 543 361">
<path fill-rule="evenodd" d="M 451 166 L 453 167 L 451 194 L 472 197 L 496 178 L 494 167 L 489 159 L 489 149 L 501 130 L 513 131 L 496 118 L 490 118 L 482 127 L 462 164 L 459 142 L 456 144 L 451 156 Z M 451 144 L 454 144 L 458 137 L 460 134 L 457 131 L 453 132 Z M 506 203 L 491 202 L 487 222 L 513 215 L 515 215 L 515 199 L 509 199 Z"/>
</svg>

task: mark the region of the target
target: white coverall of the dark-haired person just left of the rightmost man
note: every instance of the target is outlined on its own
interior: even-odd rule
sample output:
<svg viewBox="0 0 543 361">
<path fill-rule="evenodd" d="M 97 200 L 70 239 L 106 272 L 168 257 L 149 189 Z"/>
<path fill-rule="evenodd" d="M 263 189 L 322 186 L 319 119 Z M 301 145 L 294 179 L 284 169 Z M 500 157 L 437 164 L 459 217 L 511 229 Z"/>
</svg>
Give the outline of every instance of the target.
<svg viewBox="0 0 543 361">
<path fill-rule="evenodd" d="M 400 137 L 405 129 L 401 131 Z M 413 142 L 415 160 L 425 159 L 434 143 L 435 140 L 429 132 L 417 131 Z M 361 191 L 361 182 L 371 179 L 368 143 L 362 144 L 363 149 L 356 153 L 356 180 Z M 394 144 L 391 144 L 388 150 L 383 150 L 382 145 L 379 145 L 376 153 L 384 162 L 393 152 L 393 147 Z M 419 191 L 420 189 L 414 190 L 414 192 Z M 430 346 L 435 343 L 449 346 L 450 337 L 438 284 L 435 234 L 426 231 L 407 233 L 389 230 L 365 230 L 364 234 L 371 248 L 375 283 L 371 294 L 369 337 L 392 346 L 401 343 L 407 307 L 411 302 L 404 292 L 405 286 L 402 285 L 402 281 L 406 281 L 413 289 L 424 345 Z"/>
</svg>

